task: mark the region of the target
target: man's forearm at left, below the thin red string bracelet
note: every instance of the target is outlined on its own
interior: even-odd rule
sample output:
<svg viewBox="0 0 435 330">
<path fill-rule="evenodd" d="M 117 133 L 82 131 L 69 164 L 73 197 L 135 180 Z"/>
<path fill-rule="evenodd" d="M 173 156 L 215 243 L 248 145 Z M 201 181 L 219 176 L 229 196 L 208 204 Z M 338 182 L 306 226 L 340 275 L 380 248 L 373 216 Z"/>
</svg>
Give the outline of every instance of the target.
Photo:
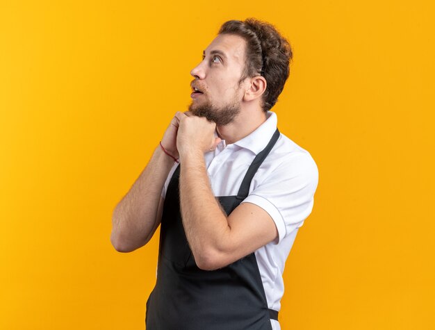
<svg viewBox="0 0 435 330">
<path fill-rule="evenodd" d="M 133 251 L 151 239 L 158 202 L 174 160 L 158 146 L 129 192 L 113 211 L 110 240 L 118 251 Z"/>
</svg>

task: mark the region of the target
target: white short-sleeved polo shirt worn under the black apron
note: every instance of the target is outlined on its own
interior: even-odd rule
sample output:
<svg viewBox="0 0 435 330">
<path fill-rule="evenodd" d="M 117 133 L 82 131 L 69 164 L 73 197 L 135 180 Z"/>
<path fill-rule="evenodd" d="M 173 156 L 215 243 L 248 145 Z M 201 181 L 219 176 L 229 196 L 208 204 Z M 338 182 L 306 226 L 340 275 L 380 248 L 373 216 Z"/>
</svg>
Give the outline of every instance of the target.
<svg viewBox="0 0 435 330">
<path fill-rule="evenodd" d="M 249 165 L 261 152 L 277 129 L 277 115 L 268 111 L 266 121 L 242 140 L 226 145 L 222 140 L 215 151 L 204 154 L 204 160 L 215 197 L 237 195 Z M 217 133 L 215 133 L 217 136 Z M 174 163 L 162 191 L 166 195 Z M 308 151 L 282 134 L 270 154 L 258 168 L 249 195 L 242 203 L 260 206 L 277 226 L 279 237 L 254 253 L 265 290 L 268 307 L 279 311 L 284 295 L 282 274 L 286 258 L 295 241 L 297 230 L 313 209 L 313 196 L 318 185 L 318 167 Z M 279 322 L 270 320 L 272 329 Z"/>
</svg>

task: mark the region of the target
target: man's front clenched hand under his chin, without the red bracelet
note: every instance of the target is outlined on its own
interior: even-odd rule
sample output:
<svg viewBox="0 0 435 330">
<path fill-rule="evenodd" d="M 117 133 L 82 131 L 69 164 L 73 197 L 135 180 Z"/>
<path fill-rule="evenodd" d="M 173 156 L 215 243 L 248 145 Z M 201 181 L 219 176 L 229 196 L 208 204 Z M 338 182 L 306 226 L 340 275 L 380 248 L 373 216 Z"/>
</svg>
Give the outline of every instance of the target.
<svg viewBox="0 0 435 330">
<path fill-rule="evenodd" d="M 208 122 L 205 117 L 197 117 L 190 111 L 186 111 L 186 113 L 177 112 L 175 118 L 179 124 L 177 151 L 180 157 L 190 152 L 199 151 L 204 154 L 213 151 L 221 142 L 221 139 L 215 138 L 214 135 L 216 123 Z"/>
</svg>

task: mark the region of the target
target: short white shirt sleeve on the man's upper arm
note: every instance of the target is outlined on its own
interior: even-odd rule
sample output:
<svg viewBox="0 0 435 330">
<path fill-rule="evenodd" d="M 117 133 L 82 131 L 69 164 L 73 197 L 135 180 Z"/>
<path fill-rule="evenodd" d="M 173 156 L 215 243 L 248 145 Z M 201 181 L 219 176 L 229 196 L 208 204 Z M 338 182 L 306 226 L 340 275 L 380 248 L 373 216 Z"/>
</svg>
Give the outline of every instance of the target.
<svg viewBox="0 0 435 330">
<path fill-rule="evenodd" d="M 269 213 L 280 242 L 304 224 L 313 209 L 318 167 L 308 152 L 292 155 L 259 183 L 242 203 L 252 203 Z"/>
</svg>

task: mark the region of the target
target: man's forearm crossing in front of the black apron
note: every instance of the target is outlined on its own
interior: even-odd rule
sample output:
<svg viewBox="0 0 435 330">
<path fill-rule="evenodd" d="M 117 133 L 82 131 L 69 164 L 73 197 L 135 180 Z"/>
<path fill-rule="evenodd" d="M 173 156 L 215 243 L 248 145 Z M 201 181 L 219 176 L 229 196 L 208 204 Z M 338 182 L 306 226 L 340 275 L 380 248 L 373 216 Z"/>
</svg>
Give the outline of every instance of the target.
<svg viewBox="0 0 435 330">
<path fill-rule="evenodd" d="M 186 238 L 199 265 L 209 265 L 229 236 L 227 216 L 213 195 L 200 153 L 181 158 L 180 202 Z"/>
</svg>

